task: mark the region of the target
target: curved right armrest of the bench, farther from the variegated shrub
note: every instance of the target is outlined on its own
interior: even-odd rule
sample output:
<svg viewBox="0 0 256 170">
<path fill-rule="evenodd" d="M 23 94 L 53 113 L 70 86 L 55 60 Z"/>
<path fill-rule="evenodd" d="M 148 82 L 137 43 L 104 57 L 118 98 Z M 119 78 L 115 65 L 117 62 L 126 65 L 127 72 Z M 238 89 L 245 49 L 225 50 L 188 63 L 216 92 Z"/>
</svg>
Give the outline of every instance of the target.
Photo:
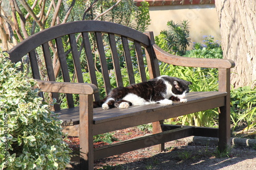
<svg viewBox="0 0 256 170">
<path fill-rule="evenodd" d="M 153 47 L 157 59 L 168 64 L 205 68 L 232 68 L 235 66 L 232 60 L 181 57 L 163 51 L 157 44 L 153 44 Z"/>
</svg>

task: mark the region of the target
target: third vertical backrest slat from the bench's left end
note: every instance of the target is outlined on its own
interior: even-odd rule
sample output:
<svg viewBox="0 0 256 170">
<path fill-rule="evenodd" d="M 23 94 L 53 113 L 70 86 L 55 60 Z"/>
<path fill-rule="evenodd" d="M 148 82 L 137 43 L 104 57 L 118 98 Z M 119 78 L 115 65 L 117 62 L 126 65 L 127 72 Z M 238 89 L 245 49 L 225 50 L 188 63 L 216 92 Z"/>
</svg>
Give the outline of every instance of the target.
<svg viewBox="0 0 256 170">
<path fill-rule="evenodd" d="M 57 52 L 58 52 L 58 57 L 59 57 L 63 80 L 64 80 L 64 82 L 70 82 L 69 69 L 68 69 L 67 59 L 66 59 L 66 55 L 64 52 L 64 47 L 63 47 L 61 37 L 56 38 L 56 47 L 57 47 Z M 66 98 L 68 101 L 68 107 L 73 108 L 74 101 L 73 101 L 72 94 L 66 94 Z"/>
</svg>

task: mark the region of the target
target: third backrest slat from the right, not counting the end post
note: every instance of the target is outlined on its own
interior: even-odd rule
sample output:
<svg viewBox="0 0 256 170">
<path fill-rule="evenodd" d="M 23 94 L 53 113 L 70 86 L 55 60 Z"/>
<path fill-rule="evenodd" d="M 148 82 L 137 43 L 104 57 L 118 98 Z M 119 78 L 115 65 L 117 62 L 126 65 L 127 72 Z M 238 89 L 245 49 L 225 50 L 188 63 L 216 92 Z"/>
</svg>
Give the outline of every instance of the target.
<svg viewBox="0 0 256 170">
<path fill-rule="evenodd" d="M 116 84 L 117 84 L 117 87 L 121 87 L 123 86 L 123 81 L 122 81 L 120 63 L 118 59 L 115 35 L 109 34 L 109 40 L 110 40 L 110 47 L 111 47 L 111 53 L 112 53 L 112 61 L 115 69 L 115 75 L 116 75 Z"/>
</svg>

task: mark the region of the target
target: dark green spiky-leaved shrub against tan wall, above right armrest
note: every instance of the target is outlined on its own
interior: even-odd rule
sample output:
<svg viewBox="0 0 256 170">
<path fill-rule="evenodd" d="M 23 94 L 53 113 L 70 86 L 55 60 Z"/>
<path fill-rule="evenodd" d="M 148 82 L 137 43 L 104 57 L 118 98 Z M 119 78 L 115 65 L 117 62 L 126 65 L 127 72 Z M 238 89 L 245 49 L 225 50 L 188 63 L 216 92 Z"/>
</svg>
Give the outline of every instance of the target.
<svg viewBox="0 0 256 170">
<path fill-rule="evenodd" d="M 167 22 L 169 30 L 163 30 L 156 36 L 156 43 L 163 50 L 182 56 L 190 43 L 188 21 L 183 20 L 181 24 L 173 20 Z"/>
</svg>

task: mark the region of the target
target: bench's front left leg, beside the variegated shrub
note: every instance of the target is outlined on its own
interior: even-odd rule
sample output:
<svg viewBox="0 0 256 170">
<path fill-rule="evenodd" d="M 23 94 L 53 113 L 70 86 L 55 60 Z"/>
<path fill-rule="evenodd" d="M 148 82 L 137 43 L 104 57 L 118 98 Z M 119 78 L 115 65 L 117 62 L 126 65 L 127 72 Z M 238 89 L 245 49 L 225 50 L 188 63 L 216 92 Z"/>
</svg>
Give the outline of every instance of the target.
<svg viewBox="0 0 256 170">
<path fill-rule="evenodd" d="M 93 96 L 80 95 L 80 169 L 93 169 Z"/>
</svg>

